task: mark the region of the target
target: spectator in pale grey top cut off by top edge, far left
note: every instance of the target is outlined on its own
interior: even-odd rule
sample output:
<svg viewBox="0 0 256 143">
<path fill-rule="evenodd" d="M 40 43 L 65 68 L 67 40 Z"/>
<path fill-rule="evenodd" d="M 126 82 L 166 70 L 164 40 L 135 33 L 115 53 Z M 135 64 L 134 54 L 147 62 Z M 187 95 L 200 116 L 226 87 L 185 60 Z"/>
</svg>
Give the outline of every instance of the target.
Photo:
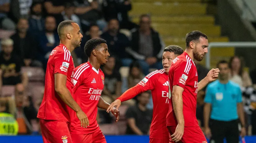
<svg viewBox="0 0 256 143">
<path fill-rule="evenodd" d="M 10 14 L 11 19 L 17 23 L 20 18 L 29 18 L 30 7 L 33 0 L 10 0 Z"/>
</svg>

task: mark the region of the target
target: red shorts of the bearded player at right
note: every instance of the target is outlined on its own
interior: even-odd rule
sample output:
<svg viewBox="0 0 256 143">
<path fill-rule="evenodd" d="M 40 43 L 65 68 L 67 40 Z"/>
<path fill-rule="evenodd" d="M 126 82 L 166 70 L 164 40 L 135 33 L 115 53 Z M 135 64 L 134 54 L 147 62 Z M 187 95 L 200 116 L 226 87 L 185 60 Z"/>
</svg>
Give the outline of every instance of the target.
<svg viewBox="0 0 256 143">
<path fill-rule="evenodd" d="M 170 136 L 174 134 L 176 126 L 167 126 Z M 170 139 L 169 143 L 174 143 Z M 185 127 L 184 134 L 178 143 L 207 143 L 207 140 L 199 126 Z"/>
</svg>

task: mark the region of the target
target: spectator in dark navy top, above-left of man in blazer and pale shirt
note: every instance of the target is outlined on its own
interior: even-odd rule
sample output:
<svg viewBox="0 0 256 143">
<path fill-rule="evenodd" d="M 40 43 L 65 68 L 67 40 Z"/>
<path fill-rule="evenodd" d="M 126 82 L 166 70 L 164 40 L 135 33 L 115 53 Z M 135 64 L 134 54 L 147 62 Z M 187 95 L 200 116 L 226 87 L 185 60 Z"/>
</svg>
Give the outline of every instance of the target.
<svg viewBox="0 0 256 143">
<path fill-rule="evenodd" d="M 31 15 L 28 20 L 29 32 L 38 33 L 44 30 L 44 18 L 42 17 L 42 3 L 33 2 L 31 5 Z"/>
</svg>

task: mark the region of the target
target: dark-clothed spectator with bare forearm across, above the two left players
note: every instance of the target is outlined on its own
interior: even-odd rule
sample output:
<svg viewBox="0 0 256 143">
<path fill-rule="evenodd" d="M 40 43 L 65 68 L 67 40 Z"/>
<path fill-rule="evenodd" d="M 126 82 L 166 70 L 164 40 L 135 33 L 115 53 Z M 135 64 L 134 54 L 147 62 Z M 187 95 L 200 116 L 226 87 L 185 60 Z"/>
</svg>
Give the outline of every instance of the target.
<svg viewBox="0 0 256 143">
<path fill-rule="evenodd" d="M 106 29 L 107 22 L 103 19 L 98 0 L 75 0 L 75 4 L 75 13 L 79 15 L 84 31 L 88 31 L 92 23 L 96 23 L 101 31 Z"/>
</svg>

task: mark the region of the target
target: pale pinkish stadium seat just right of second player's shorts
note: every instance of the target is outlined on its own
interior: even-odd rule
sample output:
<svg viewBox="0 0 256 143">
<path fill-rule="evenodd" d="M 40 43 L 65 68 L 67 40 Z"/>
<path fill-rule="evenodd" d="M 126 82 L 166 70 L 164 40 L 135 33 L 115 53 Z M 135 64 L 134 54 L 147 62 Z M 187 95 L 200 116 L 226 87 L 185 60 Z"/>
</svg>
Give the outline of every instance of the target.
<svg viewBox="0 0 256 143">
<path fill-rule="evenodd" d="M 104 135 L 118 135 L 118 126 L 116 123 L 113 124 L 100 124 L 100 129 Z"/>
</svg>

